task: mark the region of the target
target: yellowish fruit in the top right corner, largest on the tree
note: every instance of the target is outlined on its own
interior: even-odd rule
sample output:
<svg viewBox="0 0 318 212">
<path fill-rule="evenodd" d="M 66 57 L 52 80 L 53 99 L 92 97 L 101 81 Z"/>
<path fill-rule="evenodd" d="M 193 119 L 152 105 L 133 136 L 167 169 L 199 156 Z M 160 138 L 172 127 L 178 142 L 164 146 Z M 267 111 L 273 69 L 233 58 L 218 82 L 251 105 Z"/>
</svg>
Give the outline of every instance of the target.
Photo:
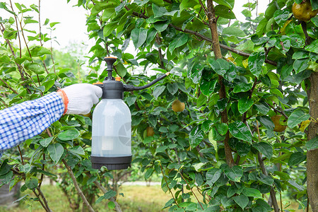
<svg viewBox="0 0 318 212">
<path fill-rule="evenodd" d="M 314 17 L 318 13 L 318 9 L 312 10 L 310 0 L 302 1 L 300 4 L 293 4 L 292 7 L 293 14 L 298 20 L 308 21 L 310 18 Z"/>
</svg>

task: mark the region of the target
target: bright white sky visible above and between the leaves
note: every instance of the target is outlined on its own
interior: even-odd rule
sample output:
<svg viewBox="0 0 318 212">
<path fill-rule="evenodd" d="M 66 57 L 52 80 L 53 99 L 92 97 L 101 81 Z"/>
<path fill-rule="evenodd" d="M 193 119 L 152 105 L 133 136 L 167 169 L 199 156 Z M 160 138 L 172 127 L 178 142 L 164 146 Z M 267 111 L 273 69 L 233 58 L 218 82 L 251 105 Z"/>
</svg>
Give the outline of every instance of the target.
<svg viewBox="0 0 318 212">
<path fill-rule="evenodd" d="M 15 2 L 19 2 L 20 4 L 30 5 L 35 4 L 38 5 L 39 1 L 35 0 L 25 0 L 25 1 L 17 1 L 11 0 L 14 4 Z M 252 0 L 250 0 L 252 1 Z M 5 0 L 7 4 L 10 4 L 9 0 Z M 249 2 L 248 0 L 236 0 L 233 12 L 238 20 L 244 21 L 245 16 L 242 15 L 242 5 Z M 86 28 L 86 15 L 88 12 L 78 6 L 73 6 L 77 4 L 76 0 L 71 0 L 69 4 L 66 3 L 66 0 L 42 0 L 40 1 L 40 13 L 41 13 L 41 23 L 45 22 L 46 18 L 49 18 L 50 22 L 59 22 L 56 25 L 56 29 L 52 31 L 52 37 L 56 37 L 55 40 L 59 42 L 52 42 L 52 47 L 55 49 L 64 49 L 64 47 L 68 46 L 71 42 L 80 44 L 81 42 L 85 43 L 89 46 L 93 45 L 93 40 L 88 40 L 88 33 Z M 269 4 L 269 0 L 259 0 L 258 13 L 264 13 L 267 8 L 267 4 Z M 255 12 L 253 12 L 253 16 L 255 18 Z M 0 9 L 0 16 L 2 18 L 6 18 L 9 15 L 8 12 Z M 37 14 L 34 14 L 37 16 Z M 35 19 L 38 19 L 35 17 Z M 38 29 L 37 23 L 31 23 L 30 27 Z M 47 30 L 46 26 L 42 26 L 42 33 L 50 34 L 49 30 Z M 51 43 L 47 43 L 47 46 L 50 47 Z"/>
</svg>

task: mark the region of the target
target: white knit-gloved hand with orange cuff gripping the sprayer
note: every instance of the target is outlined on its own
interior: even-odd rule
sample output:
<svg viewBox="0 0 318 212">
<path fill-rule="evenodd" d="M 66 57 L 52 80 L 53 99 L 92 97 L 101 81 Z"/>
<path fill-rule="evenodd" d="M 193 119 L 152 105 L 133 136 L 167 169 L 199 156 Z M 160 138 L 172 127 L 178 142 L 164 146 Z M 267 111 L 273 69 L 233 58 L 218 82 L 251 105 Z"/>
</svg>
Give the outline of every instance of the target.
<svg viewBox="0 0 318 212">
<path fill-rule="evenodd" d="M 74 84 L 59 91 L 64 95 L 66 114 L 88 114 L 102 97 L 102 88 L 88 83 Z"/>
</svg>

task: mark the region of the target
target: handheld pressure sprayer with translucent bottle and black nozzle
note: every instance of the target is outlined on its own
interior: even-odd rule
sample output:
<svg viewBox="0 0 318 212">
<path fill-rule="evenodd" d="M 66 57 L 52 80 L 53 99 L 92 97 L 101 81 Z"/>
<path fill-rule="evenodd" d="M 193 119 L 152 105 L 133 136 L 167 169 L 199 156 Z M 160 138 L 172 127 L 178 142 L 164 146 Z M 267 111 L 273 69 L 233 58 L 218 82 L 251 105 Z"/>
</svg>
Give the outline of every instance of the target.
<svg viewBox="0 0 318 212">
<path fill-rule="evenodd" d="M 112 65 L 115 57 L 105 57 L 108 76 L 102 83 L 95 84 L 102 88 L 102 100 L 93 112 L 92 124 L 92 167 L 108 170 L 123 170 L 131 164 L 131 114 L 124 103 L 124 91 L 143 90 L 162 80 L 169 73 L 156 78 L 146 86 L 125 85 L 120 77 L 112 77 Z"/>
</svg>

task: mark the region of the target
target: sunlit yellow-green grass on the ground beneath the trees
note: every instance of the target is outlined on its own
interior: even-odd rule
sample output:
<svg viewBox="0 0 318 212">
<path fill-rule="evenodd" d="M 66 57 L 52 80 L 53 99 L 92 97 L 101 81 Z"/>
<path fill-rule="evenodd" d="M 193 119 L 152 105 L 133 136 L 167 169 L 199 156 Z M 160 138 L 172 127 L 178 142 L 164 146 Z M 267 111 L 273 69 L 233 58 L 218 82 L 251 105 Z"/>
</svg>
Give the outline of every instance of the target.
<svg viewBox="0 0 318 212">
<path fill-rule="evenodd" d="M 42 185 L 42 192 L 47 197 L 49 207 L 54 212 L 67 212 L 71 211 L 69 203 L 66 196 L 59 190 L 56 186 Z M 160 185 L 153 185 L 150 187 L 146 186 L 122 186 L 120 187 L 119 193 L 123 193 L 124 196 L 119 195 L 117 197 L 117 202 L 121 206 L 122 211 L 129 212 L 157 212 L 157 211 L 167 211 L 167 209 L 162 210 L 165 203 L 172 197 L 167 192 L 166 194 L 161 190 Z M 24 196 L 29 194 L 30 197 L 35 197 L 32 192 L 25 192 L 20 194 Z M 280 203 L 278 203 L 280 206 Z M 286 206 L 284 202 L 284 206 Z M 285 208 L 288 211 L 300 212 L 302 209 L 298 209 L 299 204 L 296 201 L 290 201 L 290 206 Z M 93 206 L 96 211 L 112 211 L 107 208 L 107 201 L 102 201 L 97 206 Z M 42 212 L 44 209 L 39 202 L 26 201 L 21 203 L 16 208 L 5 208 L 0 207 L 0 212 Z M 310 209 L 310 211 L 312 211 Z"/>
</svg>

